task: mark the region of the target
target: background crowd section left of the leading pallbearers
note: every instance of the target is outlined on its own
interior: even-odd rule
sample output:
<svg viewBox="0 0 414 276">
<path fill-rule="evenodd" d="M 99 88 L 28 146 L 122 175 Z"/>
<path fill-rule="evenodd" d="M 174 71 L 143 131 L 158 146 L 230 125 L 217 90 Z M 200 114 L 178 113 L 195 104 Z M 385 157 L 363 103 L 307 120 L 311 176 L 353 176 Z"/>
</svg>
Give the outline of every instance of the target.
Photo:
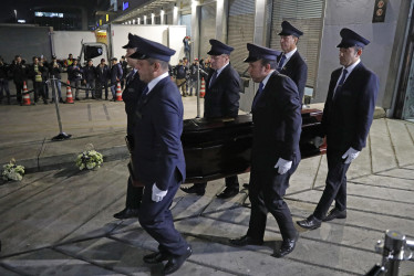
<svg viewBox="0 0 414 276">
<path fill-rule="evenodd" d="M 52 61 L 48 62 L 46 57 L 33 56 L 32 63 L 28 63 L 20 55 L 15 55 L 14 60 L 8 64 L 0 57 L 0 104 L 11 104 L 11 95 L 9 81 L 13 81 L 15 85 L 17 103 L 22 105 L 22 93 L 24 83 L 29 81 L 33 85 L 33 103 L 38 104 L 41 99 L 43 104 L 54 102 L 54 95 L 51 93 L 50 79 L 55 78 L 58 100 L 65 103 L 62 96 L 62 73 L 68 73 L 69 84 L 74 88 L 74 99 L 81 100 L 80 92 L 85 91 L 83 99 L 101 99 L 104 91 L 104 99 L 108 100 L 111 91 L 111 100 L 116 99 L 116 85 L 120 83 L 122 88 L 125 84 L 125 77 L 128 73 L 125 56 L 118 62 L 116 57 L 111 59 L 111 65 L 106 64 L 105 59 L 101 59 L 101 63 L 96 66 L 92 60 L 87 60 L 81 65 L 79 59 L 74 59 L 69 54 L 64 61 L 58 61 L 56 56 L 52 56 Z M 91 96 L 91 97 L 90 97 Z M 6 100 L 4 100 L 6 99 Z M 49 102 L 49 99 L 51 99 Z"/>
</svg>

